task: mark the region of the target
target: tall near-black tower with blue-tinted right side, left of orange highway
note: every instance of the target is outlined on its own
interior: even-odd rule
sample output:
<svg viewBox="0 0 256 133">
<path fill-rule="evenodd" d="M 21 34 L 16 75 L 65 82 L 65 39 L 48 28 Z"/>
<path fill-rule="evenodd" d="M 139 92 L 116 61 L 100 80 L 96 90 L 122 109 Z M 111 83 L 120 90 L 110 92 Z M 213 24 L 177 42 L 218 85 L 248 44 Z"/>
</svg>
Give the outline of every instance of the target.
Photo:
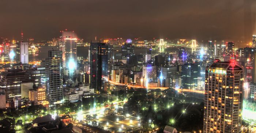
<svg viewBox="0 0 256 133">
<path fill-rule="evenodd" d="M 90 46 L 90 87 L 103 89 L 108 79 L 108 46 L 106 43 L 91 43 Z"/>
</svg>

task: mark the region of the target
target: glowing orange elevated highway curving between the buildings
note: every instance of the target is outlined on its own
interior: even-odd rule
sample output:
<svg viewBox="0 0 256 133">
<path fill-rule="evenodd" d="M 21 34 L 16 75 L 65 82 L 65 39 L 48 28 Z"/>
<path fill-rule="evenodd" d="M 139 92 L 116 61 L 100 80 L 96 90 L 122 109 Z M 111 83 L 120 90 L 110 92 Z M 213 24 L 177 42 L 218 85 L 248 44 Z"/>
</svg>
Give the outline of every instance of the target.
<svg viewBox="0 0 256 133">
<path fill-rule="evenodd" d="M 114 84 L 114 85 L 121 85 L 121 86 L 125 86 L 126 84 L 124 83 L 117 83 L 117 82 L 113 82 L 113 81 L 109 81 L 110 83 Z M 142 86 L 136 86 L 136 85 L 126 85 L 129 88 L 137 88 L 137 89 L 148 89 L 148 90 L 154 90 L 154 89 L 161 89 L 161 90 L 165 90 L 168 89 L 169 87 L 142 87 Z M 190 90 L 190 89 L 175 89 L 178 92 L 191 92 L 191 93 L 199 93 L 199 94 L 204 94 L 204 90 Z"/>
</svg>

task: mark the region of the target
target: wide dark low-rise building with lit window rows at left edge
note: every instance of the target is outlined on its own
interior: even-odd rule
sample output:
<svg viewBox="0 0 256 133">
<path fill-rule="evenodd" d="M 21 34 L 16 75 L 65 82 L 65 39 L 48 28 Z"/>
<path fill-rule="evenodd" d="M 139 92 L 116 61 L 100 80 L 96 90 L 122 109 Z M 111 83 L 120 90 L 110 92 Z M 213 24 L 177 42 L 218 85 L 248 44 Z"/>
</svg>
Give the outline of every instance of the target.
<svg viewBox="0 0 256 133">
<path fill-rule="evenodd" d="M 5 89 L 7 101 L 21 96 L 21 83 L 34 83 L 35 77 L 22 69 L 6 69 L 1 72 L 0 88 Z"/>
</svg>

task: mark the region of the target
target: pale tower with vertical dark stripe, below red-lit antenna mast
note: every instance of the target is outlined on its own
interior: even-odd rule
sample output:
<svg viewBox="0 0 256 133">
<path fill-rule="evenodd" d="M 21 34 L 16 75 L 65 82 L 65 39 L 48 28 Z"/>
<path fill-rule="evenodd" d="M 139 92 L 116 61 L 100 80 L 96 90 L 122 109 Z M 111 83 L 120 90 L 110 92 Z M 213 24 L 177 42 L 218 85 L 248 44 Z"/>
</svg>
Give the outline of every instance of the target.
<svg viewBox="0 0 256 133">
<path fill-rule="evenodd" d="M 22 64 L 29 64 L 29 43 L 16 43 L 16 62 Z"/>
</svg>

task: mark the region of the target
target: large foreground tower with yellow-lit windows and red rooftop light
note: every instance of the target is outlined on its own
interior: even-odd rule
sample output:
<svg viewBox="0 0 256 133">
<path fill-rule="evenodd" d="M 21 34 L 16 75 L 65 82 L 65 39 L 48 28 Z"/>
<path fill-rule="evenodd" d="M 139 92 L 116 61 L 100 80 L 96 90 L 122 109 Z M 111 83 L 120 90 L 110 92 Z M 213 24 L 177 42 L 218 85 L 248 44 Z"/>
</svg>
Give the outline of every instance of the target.
<svg viewBox="0 0 256 133">
<path fill-rule="evenodd" d="M 243 68 L 235 62 L 206 67 L 204 133 L 239 133 L 242 127 Z"/>
</svg>

